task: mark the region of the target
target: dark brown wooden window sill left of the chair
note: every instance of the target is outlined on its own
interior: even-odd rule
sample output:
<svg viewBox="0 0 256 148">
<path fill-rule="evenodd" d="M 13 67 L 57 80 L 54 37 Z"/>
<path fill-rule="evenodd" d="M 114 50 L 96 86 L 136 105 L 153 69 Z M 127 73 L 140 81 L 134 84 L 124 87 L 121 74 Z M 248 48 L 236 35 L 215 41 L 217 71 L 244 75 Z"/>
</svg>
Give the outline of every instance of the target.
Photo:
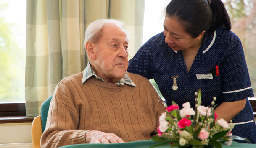
<svg viewBox="0 0 256 148">
<path fill-rule="evenodd" d="M 32 123 L 34 117 L 28 116 L 2 116 L 0 117 L 0 124 L 3 123 Z"/>
</svg>

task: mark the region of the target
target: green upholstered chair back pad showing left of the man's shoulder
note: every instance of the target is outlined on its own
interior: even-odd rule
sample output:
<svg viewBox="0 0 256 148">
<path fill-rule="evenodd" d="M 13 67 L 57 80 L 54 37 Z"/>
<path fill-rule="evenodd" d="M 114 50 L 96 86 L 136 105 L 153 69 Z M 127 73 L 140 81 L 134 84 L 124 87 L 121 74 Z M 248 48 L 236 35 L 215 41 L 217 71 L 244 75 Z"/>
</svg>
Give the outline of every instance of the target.
<svg viewBox="0 0 256 148">
<path fill-rule="evenodd" d="M 42 124 L 42 133 L 45 131 L 47 115 L 50 107 L 50 102 L 53 96 L 48 97 L 41 105 L 41 124 Z"/>
</svg>

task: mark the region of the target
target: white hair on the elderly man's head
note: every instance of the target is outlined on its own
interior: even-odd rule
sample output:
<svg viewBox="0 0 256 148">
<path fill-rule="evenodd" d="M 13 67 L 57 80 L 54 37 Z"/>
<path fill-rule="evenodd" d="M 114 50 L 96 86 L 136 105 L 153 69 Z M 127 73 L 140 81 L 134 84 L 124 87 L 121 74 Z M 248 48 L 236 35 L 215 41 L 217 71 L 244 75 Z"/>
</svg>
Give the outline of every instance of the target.
<svg viewBox="0 0 256 148">
<path fill-rule="evenodd" d="M 121 27 L 124 30 L 124 33 L 126 34 L 128 40 L 128 31 L 124 29 L 124 23 L 121 20 L 116 19 L 100 19 L 95 20 L 94 22 L 90 23 L 90 25 L 87 27 L 85 31 L 85 37 L 84 37 L 84 47 L 85 43 L 87 41 L 91 41 L 93 43 L 97 43 L 99 38 L 101 37 L 101 31 L 103 26 L 107 24 L 114 24 L 119 27 Z"/>
</svg>

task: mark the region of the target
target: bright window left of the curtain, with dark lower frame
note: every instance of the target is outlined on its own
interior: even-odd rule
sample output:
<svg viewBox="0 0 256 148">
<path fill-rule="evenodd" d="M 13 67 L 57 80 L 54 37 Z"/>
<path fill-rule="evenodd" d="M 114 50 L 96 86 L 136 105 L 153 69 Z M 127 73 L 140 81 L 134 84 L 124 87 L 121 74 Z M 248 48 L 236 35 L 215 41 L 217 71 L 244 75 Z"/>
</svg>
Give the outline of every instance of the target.
<svg viewBox="0 0 256 148">
<path fill-rule="evenodd" d="M 0 59 L 0 116 L 25 115 L 26 0 L 0 1 Z"/>
</svg>

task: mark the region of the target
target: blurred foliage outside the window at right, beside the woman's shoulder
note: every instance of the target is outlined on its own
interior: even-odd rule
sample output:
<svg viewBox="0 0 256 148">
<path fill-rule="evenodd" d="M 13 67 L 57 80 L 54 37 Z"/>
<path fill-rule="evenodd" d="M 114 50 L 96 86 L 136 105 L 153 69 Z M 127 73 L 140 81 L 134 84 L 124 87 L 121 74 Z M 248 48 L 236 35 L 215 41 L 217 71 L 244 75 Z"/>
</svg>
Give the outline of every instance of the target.
<svg viewBox="0 0 256 148">
<path fill-rule="evenodd" d="M 256 93 L 256 0 L 223 0 L 230 15 L 233 31 L 241 40 L 251 79 Z"/>
</svg>

